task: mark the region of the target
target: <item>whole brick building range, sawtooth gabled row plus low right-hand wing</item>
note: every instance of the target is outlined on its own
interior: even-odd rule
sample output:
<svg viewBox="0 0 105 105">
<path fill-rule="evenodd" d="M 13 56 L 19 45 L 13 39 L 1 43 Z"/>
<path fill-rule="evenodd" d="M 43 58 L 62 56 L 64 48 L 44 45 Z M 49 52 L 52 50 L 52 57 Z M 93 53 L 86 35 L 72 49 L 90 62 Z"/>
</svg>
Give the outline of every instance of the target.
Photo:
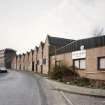
<svg viewBox="0 0 105 105">
<path fill-rule="evenodd" d="M 105 35 L 81 40 L 48 35 L 45 43 L 13 60 L 14 69 L 44 74 L 61 64 L 75 66 L 81 77 L 105 80 Z"/>
</svg>

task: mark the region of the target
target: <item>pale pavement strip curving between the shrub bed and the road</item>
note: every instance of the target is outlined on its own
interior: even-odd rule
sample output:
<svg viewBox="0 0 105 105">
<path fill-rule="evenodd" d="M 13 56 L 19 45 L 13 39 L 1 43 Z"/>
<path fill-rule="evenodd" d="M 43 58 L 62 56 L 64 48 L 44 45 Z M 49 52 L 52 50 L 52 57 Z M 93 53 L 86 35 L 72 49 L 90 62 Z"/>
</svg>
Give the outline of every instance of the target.
<svg viewBox="0 0 105 105">
<path fill-rule="evenodd" d="M 64 91 L 68 93 L 75 93 L 75 94 L 80 94 L 80 95 L 105 98 L 104 89 L 91 89 L 91 88 L 67 85 L 67 84 L 60 83 L 60 82 L 50 80 L 50 79 L 46 79 L 46 81 L 50 83 L 55 88 L 55 90 Z"/>
</svg>

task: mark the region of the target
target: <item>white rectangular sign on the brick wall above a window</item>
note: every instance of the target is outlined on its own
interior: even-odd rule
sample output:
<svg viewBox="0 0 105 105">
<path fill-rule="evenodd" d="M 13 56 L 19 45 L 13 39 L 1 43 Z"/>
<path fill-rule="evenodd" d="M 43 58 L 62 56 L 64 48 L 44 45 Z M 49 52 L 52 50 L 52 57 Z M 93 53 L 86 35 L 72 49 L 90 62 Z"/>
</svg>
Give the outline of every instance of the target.
<svg viewBox="0 0 105 105">
<path fill-rule="evenodd" d="M 72 52 L 72 59 L 86 58 L 86 50 Z"/>
</svg>

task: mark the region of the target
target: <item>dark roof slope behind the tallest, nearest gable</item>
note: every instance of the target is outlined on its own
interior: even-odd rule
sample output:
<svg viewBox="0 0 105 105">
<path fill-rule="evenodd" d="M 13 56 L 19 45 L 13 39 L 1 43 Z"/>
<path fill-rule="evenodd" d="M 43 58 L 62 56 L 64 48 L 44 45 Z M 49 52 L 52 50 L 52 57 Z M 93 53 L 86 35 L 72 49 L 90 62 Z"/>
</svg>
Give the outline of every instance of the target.
<svg viewBox="0 0 105 105">
<path fill-rule="evenodd" d="M 65 38 L 59 38 L 59 37 L 52 37 L 52 36 L 47 36 L 48 37 L 48 42 L 50 45 L 54 45 L 54 46 L 64 46 L 68 43 L 71 43 L 72 39 L 65 39 Z"/>
</svg>

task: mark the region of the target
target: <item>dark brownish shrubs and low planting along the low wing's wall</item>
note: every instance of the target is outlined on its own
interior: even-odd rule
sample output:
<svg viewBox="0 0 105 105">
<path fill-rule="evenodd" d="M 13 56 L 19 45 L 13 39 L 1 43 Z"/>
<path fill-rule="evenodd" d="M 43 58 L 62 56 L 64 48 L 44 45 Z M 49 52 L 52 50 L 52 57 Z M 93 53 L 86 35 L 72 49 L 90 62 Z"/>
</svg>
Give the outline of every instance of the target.
<svg viewBox="0 0 105 105">
<path fill-rule="evenodd" d="M 105 81 L 80 77 L 73 66 L 55 66 L 53 70 L 49 72 L 49 77 L 71 85 L 105 89 Z"/>
</svg>

